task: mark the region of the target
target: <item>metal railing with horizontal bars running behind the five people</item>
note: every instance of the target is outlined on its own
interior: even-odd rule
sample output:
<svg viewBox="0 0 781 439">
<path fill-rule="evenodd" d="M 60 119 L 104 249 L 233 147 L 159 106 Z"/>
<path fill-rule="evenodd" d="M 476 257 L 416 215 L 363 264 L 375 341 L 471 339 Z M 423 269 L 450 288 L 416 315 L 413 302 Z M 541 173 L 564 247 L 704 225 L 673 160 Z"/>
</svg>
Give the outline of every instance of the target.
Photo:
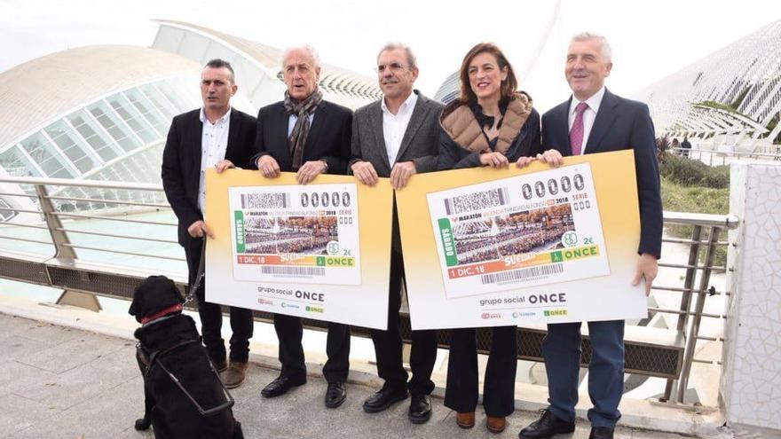
<svg viewBox="0 0 781 439">
<path fill-rule="evenodd" d="M 8 207 L 0 208 L 4 213 L 4 218 L 17 217 L 21 214 L 27 214 L 37 221 L 29 219 L 24 223 L 0 223 L 0 277 L 12 278 L 31 283 L 37 283 L 48 286 L 55 286 L 65 289 L 65 293 L 59 298 L 60 303 L 75 304 L 98 310 L 99 305 L 94 294 L 105 295 L 114 298 L 128 299 L 132 296 L 132 289 L 138 282 L 153 272 L 161 270 L 151 269 L 132 269 L 126 266 L 105 263 L 84 263 L 78 257 L 78 251 L 100 252 L 106 255 L 133 256 L 134 258 L 152 258 L 156 261 L 169 261 L 182 264 L 185 258 L 182 257 L 181 250 L 175 239 L 166 237 L 176 236 L 177 223 L 170 221 L 161 221 L 159 219 L 139 219 L 137 215 L 141 212 L 150 211 L 170 211 L 170 207 L 157 201 L 144 201 L 144 196 L 138 195 L 145 192 L 154 192 L 162 197 L 162 186 L 160 184 L 129 184 L 122 182 L 95 182 L 79 181 L 70 179 L 42 179 L 28 177 L 0 177 L 0 183 L 5 187 L 10 184 L 18 185 L 18 191 L 0 192 L 0 200 Z M 63 190 L 59 190 L 58 195 L 51 195 L 51 188 L 79 188 L 83 193 L 79 196 L 63 195 Z M 123 191 L 126 200 L 116 200 L 112 197 L 106 198 L 106 191 Z M 92 192 L 90 194 L 89 192 Z M 137 194 L 138 196 L 133 196 Z M 146 197 L 149 198 L 149 197 Z M 154 198 L 154 197 L 153 197 Z M 27 207 L 24 203 L 14 203 L 12 199 L 28 200 Z M 73 207 L 73 201 L 78 201 L 89 205 L 89 203 L 99 203 L 104 209 L 98 212 L 65 212 L 66 206 Z M 17 204 L 22 207 L 14 207 Z M 30 208 L 32 207 L 32 208 Z M 171 216 L 172 218 L 172 216 Z M 163 228 L 162 237 L 154 237 L 150 234 L 133 234 L 129 231 L 98 231 L 89 227 L 91 222 L 97 223 L 117 223 L 117 224 L 142 224 L 155 228 Z M 685 403 L 684 395 L 688 387 L 691 365 L 694 363 L 712 363 L 710 360 L 696 358 L 698 341 L 716 341 L 722 342 L 723 336 L 706 337 L 700 335 L 700 327 L 703 319 L 715 318 L 725 319 L 722 314 L 706 313 L 706 297 L 721 294 L 734 294 L 730 291 L 715 291 L 710 286 L 711 274 L 714 271 L 729 270 L 724 266 L 714 266 L 714 255 L 718 247 L 727 246 L 725 240 L 721 240 L 724 232 L 728 229 L 734 229 L 738 226 L 738 218 L 735 216 L 715 216 L 689 213 L 665 212 L 665 224 L 685 225 L 691 227 L 691 234 L 688 238 L 667 238 L 665 242 L 684 245 L 689 247 L 688 259 L 685 263 L 675 263 L 662 261 L 659 267 L 663 270 L 682 270 L 682 283 L 679 285 L 654 285 L 652 290 L 656 294 L 681 294 L 680 306 L 675 309 L 665 309 L 661 307 L 650 307 L 648 319 L 642 323 L 648 323 L 655 315 L 672 315 L 675 317 L 675 327 L 669 327 L 667 332 L 670 337 L 667 341 L 629 341 L 627 338 L 627 372 L 641 373 L 648 376 L 659 376 L 667 378 L 667 386 L 662 401 Z M 49 239 L 22 237 L 9 235 L 8 231 L 48 231 Z M 102 239 L 103 245 L 85 245 L 83 243 L 73 242 L 81 235 L 97 237 Z M 125 248 L 119 248 L 109 239 L 132 240 L 140 243 L 152 243 L 168 247 L 168 252 L 150 252 L 133 251 Z M 37 252 L 31 255 L 26 248 L 4 250 L 4 242 L 12 241 L 15 243 L 33 242 L 36 244 L 51 244 L 51 253 L 43 255 Z M 27 249 L 28 250 L 28 249 Z M 80 252 L 79 252 L 80 253 Z M 155 266 L 155 269 L 157 266 Z M 184 273 L 180 273 L 178 278 L 180 286 L 186 278 Z M 270 320 L 271 315 L 256 311 L 256 318 L 260 320 Z M 304 320 L 305 325 L 311 328 L 322 329 L 325 325 L 322 322 L 313 320 Z M 409 336 L 409 322 L 405 319 L 404 332 L 406 339 Z M 640 326 L 643 328 L 643 326 Z M 648 328 L 654 329 L 654 328 Z M 658 329 L 657 329 L 658 331 Z M 358 334 L 368 335 L 367 331 L 356 331 Z M 440 346 L 446 348 L 448 343 L 448 334 L 441 332 Z M 544 329 L 540 328 L 519 328 L 519 358 L 540 361 L 541 349 L 540 343 L 544 337 Z M 723 333 L 723 332 L 722 332 Z M 485 351 L 490 346 L 490 333 L 485 331 L 478 332 L 479 346 Z M 588 365 L 590 357 L 590 344 L 588 337 L 584 337 L 583 364 Z M 666 365 L 657 365 L 657 369 L 651 367 L 651 364 L 659 362 Z M 675 389 L 675 382 L 677 388 Z"/>
</svg>

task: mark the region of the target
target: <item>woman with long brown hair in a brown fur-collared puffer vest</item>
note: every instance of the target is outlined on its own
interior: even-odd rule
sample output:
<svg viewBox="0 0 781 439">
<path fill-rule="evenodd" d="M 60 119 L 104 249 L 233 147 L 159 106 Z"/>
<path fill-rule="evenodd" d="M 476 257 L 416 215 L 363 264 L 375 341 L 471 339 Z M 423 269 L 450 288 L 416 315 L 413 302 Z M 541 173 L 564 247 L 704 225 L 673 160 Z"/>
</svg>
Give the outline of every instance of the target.
<svg viewBox="0 0 781 439">
<path fill-rule="evenodd" d="M 493 43 L 479 43 L 461 63 L 461 97 L 440 118 L 438 170 L 489 166 L 522 167 L 541 152 L 540 114 L 532 98 L 517 91 L 517 79 Z M 493 433 L 506 427 L 515 410 L 517 327 L 492 328 L 485 370 L 483 407 Z M 457 412 L 459 427 L 475 425 L 477 339 L 474 328 L 451 331 L 445 405 Z"/>
</svg>

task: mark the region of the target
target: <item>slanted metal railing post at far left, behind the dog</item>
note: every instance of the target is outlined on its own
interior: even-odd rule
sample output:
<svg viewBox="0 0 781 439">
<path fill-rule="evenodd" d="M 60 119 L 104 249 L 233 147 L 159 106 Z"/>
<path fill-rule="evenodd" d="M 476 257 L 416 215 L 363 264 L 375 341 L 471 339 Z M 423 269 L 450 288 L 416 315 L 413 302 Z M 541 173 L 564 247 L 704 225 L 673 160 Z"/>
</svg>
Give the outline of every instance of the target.
<svg viewBox="0 0 781 439">
<path fill-rule="evenodd" d="M 49 227 L 51 242 L 54 244 L 56 252 L 54 258 L 62 262 L 73 263 L 76 259 L 76 252 L 73 247 L 70 247 L 70 239 L 68 239 L 67 233 L 62 231 L 63 226 L 62 222 L 59 221 L 59 216 L 54 215 L 57 209 L 54 208 L 54 203 L 49 199 L 49 193 L 46 192 L 43 184 L 36 184 L 36 194 L 38 195 L 38 205 L 41 207 L 41 212 L 43 212 L 43 219 L 46 221 L 46 226 Z M 59 294 L 56 303 L 58 305 L 76 306 L 95 312 L 101 310 L 100 302 L 98 302 L 95 294 L 67 289 L 62 294 Z"/>
</svg>

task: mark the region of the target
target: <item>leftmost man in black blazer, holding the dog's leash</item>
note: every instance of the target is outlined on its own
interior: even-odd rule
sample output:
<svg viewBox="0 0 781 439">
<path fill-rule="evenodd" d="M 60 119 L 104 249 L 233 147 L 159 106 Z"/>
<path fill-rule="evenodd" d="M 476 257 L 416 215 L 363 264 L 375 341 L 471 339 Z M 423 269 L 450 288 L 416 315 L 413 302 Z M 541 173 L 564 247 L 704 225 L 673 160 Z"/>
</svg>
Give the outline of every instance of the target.
<svg viewBox="0 0 781 439">
<path fill-rule="evenodd" d="M 162 153 L 162 186 L 178 219 L 179 244 L 185 247 L 189 286 L 192 288 L 201 265 L 204 237 L 212 236 L 203 220 L 206 202 L 205 171 L 249 167 L 255 145 L 254 117 L 231 108 L 236 93 L 233 67 L 222 59 L 212 59 L 201 72 L 203 107 L 179 114 L 171 122 Z M 220 328 L 222 310 L 204 300 L 204 283 L 195 289 L 201 316 L 203 344 L 217 370 L 225 372 L 225 386 L 241 385 L 247 372 L 249 339 L 252 337 L 252 311 L 231 307 L 230 364 L 225 360 L 225 341 Z"/>
</svg>

